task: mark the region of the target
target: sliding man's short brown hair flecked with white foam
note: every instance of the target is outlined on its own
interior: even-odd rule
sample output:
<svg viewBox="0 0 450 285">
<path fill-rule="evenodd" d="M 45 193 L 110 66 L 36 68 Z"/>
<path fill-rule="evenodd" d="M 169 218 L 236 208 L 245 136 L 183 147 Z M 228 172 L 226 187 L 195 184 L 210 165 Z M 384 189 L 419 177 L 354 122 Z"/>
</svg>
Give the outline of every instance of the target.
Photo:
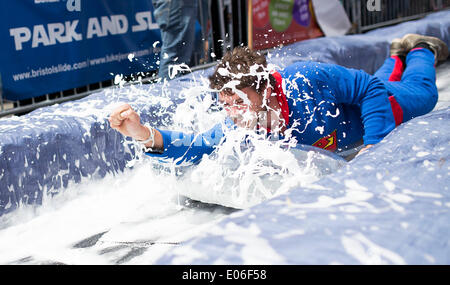
<svg viewBox="0 0 450 285">
<path fill-rule="evenodd" d="M 267 87 L 275 86 L 275 78 L 270 74 L 269 80 L 267 80 L 267 76 L 257 76 L 251 74 L 251 71 L 263 73 L 266 70 L 267 61 L 263 54 L 252 51 L 248 47 L 235 47 L 223 56 L 214 73 L 209 77 L 210 87 L 230 95 L 233 93 L 232 89 L 224 88 L 224 86 L 232 80 L 237 80 L 239 81 L 239 84 L 236 85 L 237 89 L 251 87 L 262 95 Z"/>
</svg>

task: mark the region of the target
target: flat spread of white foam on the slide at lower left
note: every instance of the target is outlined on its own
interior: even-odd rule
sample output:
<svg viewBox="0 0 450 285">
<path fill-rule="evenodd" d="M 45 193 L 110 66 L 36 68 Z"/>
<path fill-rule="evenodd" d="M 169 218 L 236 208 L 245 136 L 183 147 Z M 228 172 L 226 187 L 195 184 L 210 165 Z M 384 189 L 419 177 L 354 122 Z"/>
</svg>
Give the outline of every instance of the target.
<svg viewBox="0 0 450 285">
<path fill-rule="evenodd" d="M 100 256 L 96 251 L 135 240 L 182 242 L 192 236 L 186 231 L 196 234 L 192 230 L 197 225 L 226 216 L 227 211 L 220 208 L 206 217 L 206 213 L 180 204 L 177 193 L 166 187 L 170 183 L 174 183 L 172 176 L 140 163 L 123 174 L 72 185 L 64 193 L 45 199 L 40 207 L 23 207 L 7 214 L 2 217 L 0 263 L 32 256 L 68 264 L 110 264 L 116 256 Z M 83 254 L 73 247 L 105 231 L 108 233 L 98 245 Z M 172 240 L 180 233 L 184 234 L 181 239 Z"/>
</svg>

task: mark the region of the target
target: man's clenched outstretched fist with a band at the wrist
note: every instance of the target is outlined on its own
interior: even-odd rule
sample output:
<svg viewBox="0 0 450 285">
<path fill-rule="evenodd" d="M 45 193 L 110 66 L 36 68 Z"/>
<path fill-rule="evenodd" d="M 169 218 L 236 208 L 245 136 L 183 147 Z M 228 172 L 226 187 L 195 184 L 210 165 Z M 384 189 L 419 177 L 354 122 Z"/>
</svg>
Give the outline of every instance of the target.
<svg viewBox="0 0 450 285">
<path fill-rule="evenodd" d="M 125 136 L 132 137 L 135 140 L 144 141 L 151 136 L 150 130 L 141 124 L 141 118 L 128 104 L 124 104 L 115 109 L 108 120 L 111 128 L 119 131 Z M 153 145 L 155 149 L 162 149 L 162 136 L 157 130 L 154 130 L 154 132 L 155 141 L 149 142 L 145 146 L 151 147 Z"/>
</svg>

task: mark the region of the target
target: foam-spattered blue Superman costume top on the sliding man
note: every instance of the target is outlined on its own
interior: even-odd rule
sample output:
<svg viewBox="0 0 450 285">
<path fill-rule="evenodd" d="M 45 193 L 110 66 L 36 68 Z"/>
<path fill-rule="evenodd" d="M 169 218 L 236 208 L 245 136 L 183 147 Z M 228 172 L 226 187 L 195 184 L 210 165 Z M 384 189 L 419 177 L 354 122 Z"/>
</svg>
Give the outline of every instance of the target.
<svg viewBox="0 0 450 285">
<path fill-rule="evenodd" d="M 300 144 L 342 151 L 376 144 L 395 128 L 389 93 L 376 77 L 334 64 L 298 62 L 280 71 L 292 135 Z M 226 121 L 231 126 L 231 120 Z M 202 134 L 159 130 L 163 153 L 150 156 L 196 162 L 223 137 L 222 124 Z"/>
</svg>

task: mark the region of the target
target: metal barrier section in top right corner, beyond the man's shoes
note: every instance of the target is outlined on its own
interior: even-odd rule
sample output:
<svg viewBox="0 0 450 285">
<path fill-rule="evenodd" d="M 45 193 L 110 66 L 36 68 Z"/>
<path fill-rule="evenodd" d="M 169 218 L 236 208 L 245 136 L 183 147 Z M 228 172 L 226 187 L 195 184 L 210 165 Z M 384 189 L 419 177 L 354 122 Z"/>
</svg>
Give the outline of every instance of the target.
<svg viewBox="0 0 450 285">
<path fill-rule="evenodd" d="M 341 0 L 354 33 L 422 18 L 450 8 L 450 0 Z"/>
</svg>

